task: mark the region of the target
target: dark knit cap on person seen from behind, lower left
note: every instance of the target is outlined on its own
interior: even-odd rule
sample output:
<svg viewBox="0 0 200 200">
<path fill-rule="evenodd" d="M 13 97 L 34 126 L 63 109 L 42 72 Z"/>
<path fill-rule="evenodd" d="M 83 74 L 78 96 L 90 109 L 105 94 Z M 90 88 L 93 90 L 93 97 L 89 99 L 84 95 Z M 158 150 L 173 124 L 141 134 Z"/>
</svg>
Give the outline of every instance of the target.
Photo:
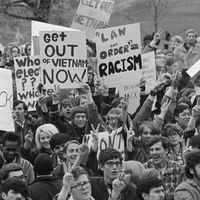
<svg viewBox="0 0 200 200">
<path fill-rule="evenodd" d="M 39 154 L 34 162 L 34 170 L 37 175 L 48 175 L 53 171 L 53 161 L 52 158 L 46 154 Z"/>
</svg>

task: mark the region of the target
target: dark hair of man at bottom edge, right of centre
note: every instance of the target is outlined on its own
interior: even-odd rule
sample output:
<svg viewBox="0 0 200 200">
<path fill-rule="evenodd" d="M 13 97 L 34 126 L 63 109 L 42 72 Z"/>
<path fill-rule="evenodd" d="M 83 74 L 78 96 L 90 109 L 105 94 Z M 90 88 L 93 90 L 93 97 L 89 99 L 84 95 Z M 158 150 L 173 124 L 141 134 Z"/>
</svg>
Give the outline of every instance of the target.
<svg viewBox="0 0 200 200">
<path fill-rule="evenodd" d="M 149 194 L 150 190 L 153 188 L 163 186 L 162 180 L 157 177 L 148 177 L 140 179 L 137 186 L 137 195 L 140 200 L 143 200 L 142 194 Z"/>
</svg>

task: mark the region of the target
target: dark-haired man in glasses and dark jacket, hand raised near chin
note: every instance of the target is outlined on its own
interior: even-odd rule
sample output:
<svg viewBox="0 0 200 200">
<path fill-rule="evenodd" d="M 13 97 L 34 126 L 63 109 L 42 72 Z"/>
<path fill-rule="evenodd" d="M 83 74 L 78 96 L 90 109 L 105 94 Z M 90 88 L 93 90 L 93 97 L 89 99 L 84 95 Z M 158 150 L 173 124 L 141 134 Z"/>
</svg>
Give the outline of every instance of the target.
<svg viewBox="0 0 200 200">
<path fill-rule="evenodd" d="M 99 154 L 99 168 L 103 177 L 91 178 L 92 196 L 95 200 L 132 200 L 136 197 L 136 189 L 123 181 L 122 156 L 114 148 L 107 148 Z"/>
</svg>

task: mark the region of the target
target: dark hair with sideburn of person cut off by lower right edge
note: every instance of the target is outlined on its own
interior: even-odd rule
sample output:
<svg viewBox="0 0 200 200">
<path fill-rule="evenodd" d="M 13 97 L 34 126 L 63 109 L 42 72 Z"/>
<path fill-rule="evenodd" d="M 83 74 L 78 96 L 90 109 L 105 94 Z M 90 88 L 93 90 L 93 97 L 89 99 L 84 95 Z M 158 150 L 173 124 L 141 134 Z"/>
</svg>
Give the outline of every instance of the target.
<svg viewBox="0 0 200 200">
<path fill-rule="evenodd" d="M 193 174 L 190 172 L 190 169 L 195 169 L 195 167 L 200 164 L 200 150 L 192 150 L 189 153 L 185 154 L 185 175 L 187 178 L 192 179 Z"/>
</svg>

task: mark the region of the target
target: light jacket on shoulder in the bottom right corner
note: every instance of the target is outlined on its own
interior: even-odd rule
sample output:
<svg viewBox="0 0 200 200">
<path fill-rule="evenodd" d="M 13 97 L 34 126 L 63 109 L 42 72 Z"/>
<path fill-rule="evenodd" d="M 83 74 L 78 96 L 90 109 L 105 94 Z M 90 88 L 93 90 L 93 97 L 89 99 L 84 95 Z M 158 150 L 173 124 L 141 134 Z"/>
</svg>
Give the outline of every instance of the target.
<svg viewBox="0 0 200 200">
<path fill-rule="evenodd" d="M 200 185 L 194 179 L 187 179 L 176 187 L 174 200 L 200 200 Z"/>
</svg>

